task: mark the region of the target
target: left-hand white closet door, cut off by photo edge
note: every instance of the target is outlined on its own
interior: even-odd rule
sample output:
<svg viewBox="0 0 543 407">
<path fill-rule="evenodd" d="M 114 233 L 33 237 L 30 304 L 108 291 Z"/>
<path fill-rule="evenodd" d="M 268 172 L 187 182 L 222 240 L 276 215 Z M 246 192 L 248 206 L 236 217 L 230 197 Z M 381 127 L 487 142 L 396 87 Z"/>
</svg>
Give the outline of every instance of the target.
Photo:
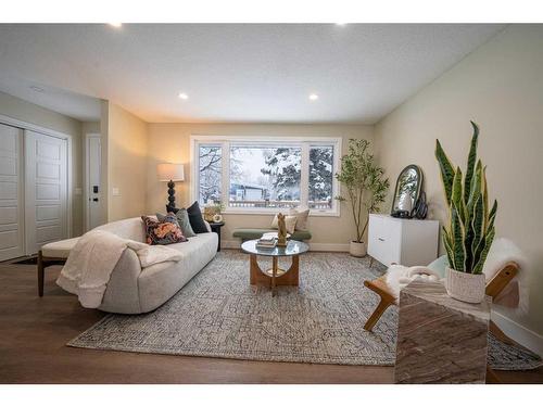
<svg viewBox="0 0 543 407">
<path fill-rule="evenodd" d="M 24 252 L 23 130 L 0 124 L 0 260 Z"/>
</svg>

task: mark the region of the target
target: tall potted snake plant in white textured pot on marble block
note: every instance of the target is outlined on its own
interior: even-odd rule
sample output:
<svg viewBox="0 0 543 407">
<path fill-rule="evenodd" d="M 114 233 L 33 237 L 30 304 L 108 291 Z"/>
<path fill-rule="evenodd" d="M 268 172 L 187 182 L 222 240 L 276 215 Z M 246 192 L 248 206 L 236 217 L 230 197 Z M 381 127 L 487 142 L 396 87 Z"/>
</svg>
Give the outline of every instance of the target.
<svg viewBox="0 0 543 407">
<path fill-rule="evenodd" d="M 450 209 L 449 222 L 442 231 L 449 260 L 445 288 L 453 298 L 480 303 L 485 288 L 482 268 L 494 240 L 497 202 L 489 208 L 485 167 L 477 160 L 479 128 L 473 122 L 471 126 L 473 136 L 464 176 L 459 167 L 453 166 L 439 140 L 435 140 L 435 157 Z"/>
</svg>

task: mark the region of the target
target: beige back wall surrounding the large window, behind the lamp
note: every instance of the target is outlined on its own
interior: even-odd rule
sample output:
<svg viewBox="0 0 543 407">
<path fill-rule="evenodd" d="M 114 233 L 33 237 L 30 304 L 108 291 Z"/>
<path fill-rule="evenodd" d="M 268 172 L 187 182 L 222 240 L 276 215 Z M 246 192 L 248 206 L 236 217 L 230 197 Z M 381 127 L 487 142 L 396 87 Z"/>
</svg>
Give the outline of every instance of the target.
<svg viewBox="0 0 543 407">
<path fill-rule="evenodd" d="M 190 145 L 191 135 L 200 136 L 311 136 L 342 137 L 343 152 L 346 152 L 350 138 L 372 140 L 371 126 L 349 125 L 249 125 L 249 124 L 150 124 L 148 163 L 148 205 L 147 211 L 164 212 L 167 201 L 166 185 L 156 179 L 156 164 L 178 162 L 185 164 L 186 181 L 176 186 L 178 205 L 190 204 Z M 225 215 L 226 226 L 223 239 L 231 240 L 236 227 L 268 227 L 272 215 Z M 354 237 L 351 214 L 345 205 L 341 217 L 311 217 L 312 243 L 349 244 Z M 323 246 L 321 246 L 323 247 Z M 332 246 L 329 246 L 333 249 Z"/>
</svg>

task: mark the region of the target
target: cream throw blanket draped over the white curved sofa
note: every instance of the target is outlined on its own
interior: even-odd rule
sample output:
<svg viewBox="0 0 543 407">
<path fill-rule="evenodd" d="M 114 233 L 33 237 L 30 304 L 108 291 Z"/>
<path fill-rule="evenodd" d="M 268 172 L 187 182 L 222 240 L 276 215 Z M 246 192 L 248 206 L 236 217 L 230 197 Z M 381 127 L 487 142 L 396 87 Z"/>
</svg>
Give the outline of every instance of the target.
<svg viewBox="0 0 543 407">
<path fill-rule="evenodd" d="M 181 254 L 174 249 L 123 239 L 105 230 L 91 230 L 70 252 L 56 284 L 76 294 L 84 307 L 98 308 L 110 276 L 125 250 L 136 252 L 141 268 L 181 259 Z"/>
</svg>

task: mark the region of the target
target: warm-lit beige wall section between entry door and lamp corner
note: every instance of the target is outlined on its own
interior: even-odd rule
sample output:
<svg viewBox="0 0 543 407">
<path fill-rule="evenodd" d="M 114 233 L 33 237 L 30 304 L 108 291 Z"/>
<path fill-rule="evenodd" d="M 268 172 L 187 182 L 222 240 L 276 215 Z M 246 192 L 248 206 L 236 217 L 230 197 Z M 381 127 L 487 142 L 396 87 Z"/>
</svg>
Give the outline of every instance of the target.
<svg viewBox="0 0 543 407">
<path fill-rule="evenodd" d="M 102 143 L 105 139 L 108 221 L 112 221 L 146 213 L 148 125 L 111 102 L 106 110 L 108 132 L 102 133 Z M 113 195 L 114 188 L 118 196 Z"/>
</svg>

